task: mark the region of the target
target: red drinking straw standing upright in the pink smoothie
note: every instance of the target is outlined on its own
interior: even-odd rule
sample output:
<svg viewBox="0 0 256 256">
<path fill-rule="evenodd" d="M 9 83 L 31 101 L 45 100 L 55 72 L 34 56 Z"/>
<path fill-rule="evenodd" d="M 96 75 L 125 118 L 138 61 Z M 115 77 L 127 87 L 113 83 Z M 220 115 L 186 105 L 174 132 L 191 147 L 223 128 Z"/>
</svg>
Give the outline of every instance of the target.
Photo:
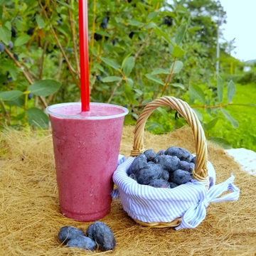
<svg viewBox="0 0 256 256">
<path fill-rule="evenodd" d="M 90 80 L 88 58 L 87 1 L 79 2 L 79 37 L 80 37 L 80 86 L 82 112 L 90 110 Z"/>
</svg>

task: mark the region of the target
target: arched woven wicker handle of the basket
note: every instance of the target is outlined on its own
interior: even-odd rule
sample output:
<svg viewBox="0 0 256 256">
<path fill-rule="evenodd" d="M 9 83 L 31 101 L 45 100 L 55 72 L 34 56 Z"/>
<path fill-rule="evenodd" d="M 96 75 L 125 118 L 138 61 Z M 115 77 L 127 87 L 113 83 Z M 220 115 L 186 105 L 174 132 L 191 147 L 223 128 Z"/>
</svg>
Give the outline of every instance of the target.
<svg viewBox="0 0 256 256">
<path fill-rule="evenodd" d="M 175 97 L 160 97 L 152 102 L 149 102 L 142 113 L 139 115 L 137 124 L 134 131 L 134 145 L 131 151 L 131 156 L 138 156 L 144 151 L 144 129 L 146 120 L 157 107 L 171 107 L 176 110 L 178 114 L 181 114 L 185 118 L 192 128 L 193 136 L 196 143 L 196 163 L 193 171 L 193 178 L 207 186 L 208 169 L 206 168 L 208 154 L 206 137 L 203 132 L 203 127 L 196 116 L 196 113 L 191 109 L 188 103 L 183 100 L 176 99 Z"/>
</svg>

